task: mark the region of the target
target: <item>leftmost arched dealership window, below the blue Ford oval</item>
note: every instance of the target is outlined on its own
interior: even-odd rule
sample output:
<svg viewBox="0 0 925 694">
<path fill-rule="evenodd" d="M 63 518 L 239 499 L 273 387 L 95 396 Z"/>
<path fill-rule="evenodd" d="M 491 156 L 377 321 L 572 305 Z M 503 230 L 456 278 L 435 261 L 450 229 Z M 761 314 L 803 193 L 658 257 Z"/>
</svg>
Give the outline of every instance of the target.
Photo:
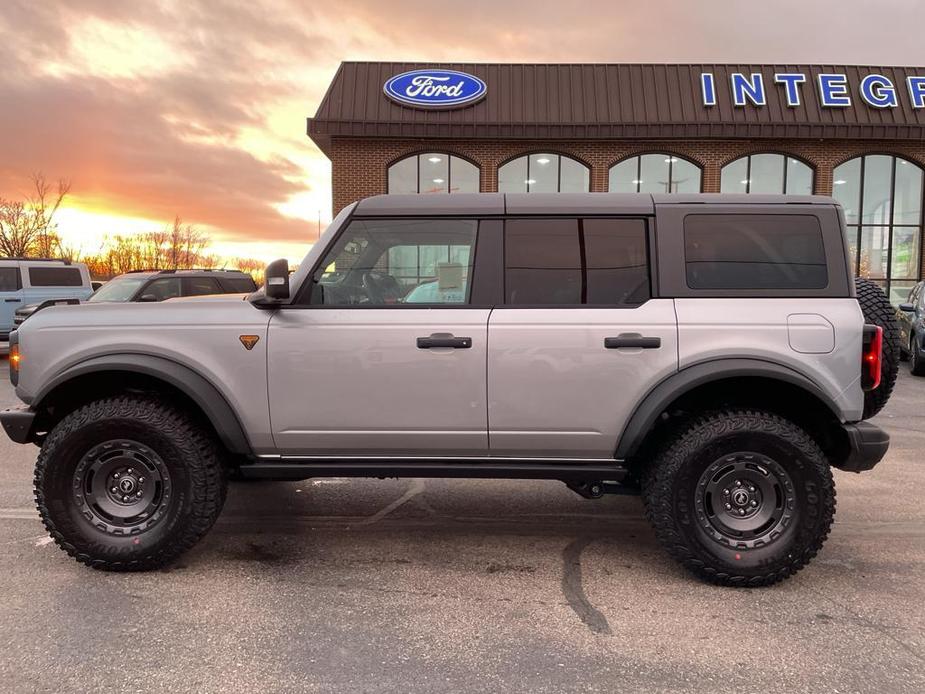
<svg viewBox="0 0 925 694">
<path fill-rule="evenodd" d="M 389 193 L 478 193 L 479 167 L 444 152 L 412 154 L 389 167 Z"/>
</svg>

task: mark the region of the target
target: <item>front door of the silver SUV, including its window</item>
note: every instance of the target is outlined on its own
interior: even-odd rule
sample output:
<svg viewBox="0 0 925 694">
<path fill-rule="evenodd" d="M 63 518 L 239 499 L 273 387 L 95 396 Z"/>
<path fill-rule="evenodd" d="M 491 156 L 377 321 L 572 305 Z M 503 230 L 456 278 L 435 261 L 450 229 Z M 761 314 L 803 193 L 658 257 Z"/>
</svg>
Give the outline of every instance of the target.
<svg viewBox="0 0 925 694">
<path fill-rule="evenodd" d="M 357 219 L 270 322 L 283 455 L 483 456 L 489 308 L 476 220 Z"/>
</svg>

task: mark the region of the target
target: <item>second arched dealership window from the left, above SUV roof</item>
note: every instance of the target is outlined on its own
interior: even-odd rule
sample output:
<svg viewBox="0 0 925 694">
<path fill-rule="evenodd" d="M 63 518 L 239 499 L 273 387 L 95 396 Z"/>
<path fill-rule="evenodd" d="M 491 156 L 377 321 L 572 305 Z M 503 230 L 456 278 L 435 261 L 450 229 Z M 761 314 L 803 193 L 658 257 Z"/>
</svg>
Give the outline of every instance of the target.
<svg viewBox="0 0 925 694">
<path fill-rule="evenodd" d="M 499 193 L 587 193 L 591 172 L 561 154 L 528 154 L 498 168 Z"/>
</svg>

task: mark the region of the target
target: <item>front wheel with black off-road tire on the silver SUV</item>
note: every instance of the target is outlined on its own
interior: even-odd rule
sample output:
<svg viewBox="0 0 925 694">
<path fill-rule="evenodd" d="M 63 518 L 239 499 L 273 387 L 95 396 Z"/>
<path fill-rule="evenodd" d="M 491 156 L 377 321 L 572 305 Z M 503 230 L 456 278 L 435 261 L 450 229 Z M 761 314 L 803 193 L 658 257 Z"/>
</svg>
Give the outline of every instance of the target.
<svg viewBox="0 0 925 694">
<path fill-rule="evenodd" d="M 150 490 L 145 503 L 153 509 L 145 508 L 143 521 L 108 520 L 113 517 L 100 509 L 114 502 L 90 493 L 96 465 L 137 468 L 135 489 Z M 182 410 L 143 395 L 98 400 L 67 415 L 49 433 L 35 465 L 35 501 L 51 537 L 77 561 L 109 571 L 159 568 L 191 548 L 218 517 L 225 490 L 212 436 Z"/>
</svg>

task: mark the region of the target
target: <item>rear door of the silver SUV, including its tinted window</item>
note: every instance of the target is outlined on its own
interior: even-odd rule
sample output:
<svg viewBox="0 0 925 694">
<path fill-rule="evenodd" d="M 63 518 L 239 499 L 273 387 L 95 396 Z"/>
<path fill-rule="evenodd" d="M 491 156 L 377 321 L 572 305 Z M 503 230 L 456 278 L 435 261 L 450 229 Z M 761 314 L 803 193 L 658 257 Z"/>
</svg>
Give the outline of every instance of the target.
<svg viewBox="0 0 925 694">
<path fill-rule="evenodd" d="M 491 454 L 612 459 L 635 406 L 678 366 L 673 301 L 652 298 L 648 221 L 510 219 L 504 234 Z"/>
</svg>

